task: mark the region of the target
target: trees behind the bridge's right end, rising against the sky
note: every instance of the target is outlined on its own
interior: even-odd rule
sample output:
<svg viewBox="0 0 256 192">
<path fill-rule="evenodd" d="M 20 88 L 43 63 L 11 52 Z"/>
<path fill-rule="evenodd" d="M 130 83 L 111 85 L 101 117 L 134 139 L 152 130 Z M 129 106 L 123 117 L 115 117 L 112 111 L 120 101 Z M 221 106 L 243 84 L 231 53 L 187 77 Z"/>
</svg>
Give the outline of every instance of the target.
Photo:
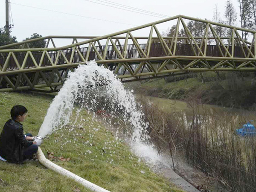
<svg viewBox="0 0 256 192">
<path fill-rule="evenodd" d="M 239 3 L 239 17 L 236 12 L 236 7 L 233 5 L 232 0 L 226 0 L 225 11 L 221 17 L 221 13 L 218 9 L 218 4 L 215 5 L 213 9 L 212 21 L 216 23 L 227 24 L 230 26 L 241 26 L 241 28 L 256 30 L 256 0 L 237 0 Z M 240 20 L 240 22 L 238 21 Z M 205 19 L 207 20 L 207 19 Z M 204 36 L 206 24 L 198 21 L 190 20 L 186 23 L 189 31 L 193 36 Z M 173 25 L 171 28 L 167 29 L 163 35 L 173 36 L 175 34 L 176 25 Z M 230 36 L 232 34 L 232 29 L 227 29 L 221 26 L 214 26 L 216 33 L 219 36 Z M 211 33 L 211 32 L 209 32 Z M 180 29 L 179 36 L 185 36 L 186 31 Z M 242 32 L 242 38 L 248 39 L 248 32 Z M 210 41 L 210 40 L 209 40 Z"/>
</svg>

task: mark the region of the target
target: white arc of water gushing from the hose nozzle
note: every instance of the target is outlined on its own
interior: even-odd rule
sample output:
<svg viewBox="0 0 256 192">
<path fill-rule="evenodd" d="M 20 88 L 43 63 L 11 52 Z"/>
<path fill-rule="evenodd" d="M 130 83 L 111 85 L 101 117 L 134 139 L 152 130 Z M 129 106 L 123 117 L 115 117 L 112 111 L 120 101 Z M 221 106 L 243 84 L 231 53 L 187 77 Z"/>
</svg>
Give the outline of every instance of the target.
<svg viewBox="0 0 256 192">
<path fill-rule="evenodd" d="M 97 86 L 102 84 L 104 86 Z M 127 134 L 131 136 L 134 153 L 148 163 L 163 161 L 153 145 L 148 144 L 148 122 L 143 120 L 144 114 L 137 108 L 133 91 L 125 90 L 122 82 L 111 70 L 98 66 L 94 61 L 80 65 L 75 72 L 70 73 L 53 99 L 38 135 L 45 137 L 67 125 L 75 102 L 78 104 L 77 113 L 82 109 L 96 112 L 100 108 L 107 111 L 106 118 L 121 117 L 122 122 L 131 127 L 132 132 Z M 76 118 L 76 121 L 78 119 L 84 118 Z M 122 126 L 122 123 L 119 125 Z"/>
</svg>

